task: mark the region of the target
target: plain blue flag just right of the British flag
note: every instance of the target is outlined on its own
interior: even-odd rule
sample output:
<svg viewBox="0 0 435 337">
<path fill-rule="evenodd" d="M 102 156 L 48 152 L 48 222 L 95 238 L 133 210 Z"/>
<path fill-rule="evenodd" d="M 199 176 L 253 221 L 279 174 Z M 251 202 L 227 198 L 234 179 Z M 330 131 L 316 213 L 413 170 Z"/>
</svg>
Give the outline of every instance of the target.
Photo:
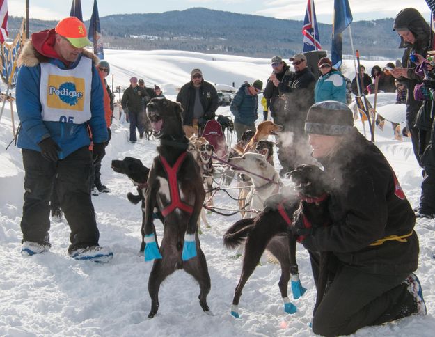
<svg viewBox="0 0 435 337">
<path fill-rule="evenodd" d="M 332 22 L 331 61 L 334 68 L 340 68 L 343 57 L 342 32 L 351 24 L 353 18 L 348 0 L 334 0 Z"/>
</svg>

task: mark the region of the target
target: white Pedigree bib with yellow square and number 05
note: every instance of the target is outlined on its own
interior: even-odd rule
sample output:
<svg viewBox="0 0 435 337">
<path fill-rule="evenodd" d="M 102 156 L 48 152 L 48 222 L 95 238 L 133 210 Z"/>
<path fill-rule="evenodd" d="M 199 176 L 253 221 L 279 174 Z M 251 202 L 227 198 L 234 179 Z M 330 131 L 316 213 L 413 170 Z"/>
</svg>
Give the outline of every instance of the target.
<svg viewBox="0 0 435 337">
<path fill-rule="evenodd" d="M 41 63 L 42 119 L 81 124 L 90 120 L 92 61 L 81 57 L 74 69 Z"/>
</svg>

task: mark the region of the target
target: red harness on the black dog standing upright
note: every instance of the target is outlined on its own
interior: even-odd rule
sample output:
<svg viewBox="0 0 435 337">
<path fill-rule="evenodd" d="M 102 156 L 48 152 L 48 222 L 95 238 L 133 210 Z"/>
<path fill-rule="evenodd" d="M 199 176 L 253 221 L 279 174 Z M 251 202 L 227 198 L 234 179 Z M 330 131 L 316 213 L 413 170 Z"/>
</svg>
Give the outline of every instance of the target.
<svg viewBox="0 0 435 337">
<path fill-rule="evenodd" d="M 180 155 L 180 157 L 177 158 L 177 161 L 172 167 L 168 164 L 168 162 L 166 162 L 166 159 L 164 159 L 164 157 L 159 156 L 166 175 L 168 175 L 169 192 L 171 194 L 171 203 L 168 206 L 164 207 L 164 209 L 161 211 L 161 214 L 164 217 L 173 212 L 175 208 L 183 210 L 184 212 L 187 212 L 189 214 L 192 214 L 193 212 L 193 207 L 191 205 L 188 205 L 187 203 L 184 203 L 180 199 L 180 191 L 178 190 L 177 185 L 177 173 L 186 155 L 187 152 L 182 152 L 182 154 Z"/>
</svg>

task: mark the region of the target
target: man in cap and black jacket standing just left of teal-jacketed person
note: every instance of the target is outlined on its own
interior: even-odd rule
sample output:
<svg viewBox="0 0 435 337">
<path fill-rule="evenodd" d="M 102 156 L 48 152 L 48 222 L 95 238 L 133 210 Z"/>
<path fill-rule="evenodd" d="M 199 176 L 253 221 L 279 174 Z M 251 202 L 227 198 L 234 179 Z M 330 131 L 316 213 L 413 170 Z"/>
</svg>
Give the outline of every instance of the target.
<svg viewBox="0 0 435 337">
<path fill-rule="evenodd" d="M 281 94 L 282 102 L 278 118 L 280 125 L 283 125 L 283 132 L 280 132 L 276 144 L 278 159 L 283 166 L 281 176 L 311 160 L 303 123 L 308 108 L 314 103 L 315 77 L 308 69 L 305 55 L 296 54 L 289 61 L 292 62 L 294 72 L 286 72 L 282 81 L 274 74 L 270 77 Z"/>
</svg>

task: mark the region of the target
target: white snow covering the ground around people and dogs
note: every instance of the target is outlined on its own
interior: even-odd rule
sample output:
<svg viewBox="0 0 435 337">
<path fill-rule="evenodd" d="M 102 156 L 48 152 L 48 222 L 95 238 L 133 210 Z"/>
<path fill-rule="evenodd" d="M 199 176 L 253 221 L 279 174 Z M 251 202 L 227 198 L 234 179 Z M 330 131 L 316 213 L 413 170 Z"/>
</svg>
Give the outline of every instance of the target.
<svg viewBox="0 0 435 337">
<path fill-rule="evenodd" d="M 106 59 L 115 75 L 115 86 L 127 86 L 133 75 L 145 79 L 147 86 L 159 84 L 168 98 L 175 99 L 176 89 L 189 81 L 193 68 L 203 70 L 206 80 L 238 88 L 244 80 L 266 80 L 271 72 L 269 59 L 198 54 L 192 52 L 110 51 Z M 347 61 L 348 62 L 348 61 Z M 374 64 L 364 61 L 367 72 Z M 347 76 L 354 77 L 349 62 Z M 109 82 L 111 79 L 109 78 Z M 388 103 L 380 99 L 379 105 Z M 199 287 L 182 271 L 166 279 L 160 289 L 160 308 L 152 320 L 148 275 L 151 262 L 138 255 L 141 240 L 141 210 L 127 201 L 134 191 L 127 177 L 114 173 L 111 159 L 137 157 L 150 166 L 157 141 L 127 142 L 128 125 L 117 119 L 112 140 L 106 148 L 102 180 L 109 194 L 93 197 L 100 244 L 113 248 L 115 256 L 105 265 L 79 262 L 67 256 L 70 230 L 65 222 L 53 223 L 50 230 L 52 249 L 40 256 L 20 255 L 22 195 L 24 171 L 18 148 L 11 146 L 12 128 L 9 105 L 0 122 L 0 336 L 313 336 L 309 327 L 315 290 L 308 254 L 299 246 L 301 281 L 308 292 L 292 302 L 294 315 L 283 312 L 278 290 L 280 267 L 267 263 L 255 269 L 244 288 L 239 320 L 230 315 L 235 285 L 241 272 L 241 260 L 231 258 L 234 251 L 222 245 L 222 235 L 239 215 L 223 217 L 207 214 L 212 228 L 203 228 L 200 236 L 207 258 L 212 290 L 208 296 L 214 313 L 208 316 L 198 304 Z M 14 107 L 14 111 L 16 111 Z M 219 114 L 230 114 L 219 107 Z M 261 115 L 261 112 L 260 112 Z M 118 116 L 116 116 L 118 118 Z M 17 126 L 15 113 L 15 125 Z M 361 122 L 356 126 L 363 132 Z M 376 134 L 377 146 L 395 169 L 412 206 L 420 197 L 421 169 L 413 157 L 411 142 L 393 139 L 390 123 Z M 275 163 L 278 160 L 275 158 Z M 279 168 L 279 167 L 278 167 Z M 214 203 L 236 207 L 226 194 L 219 192 Z M 157 234 L 162 226 L 157 222 Z M 381 327 L 365 327 L 355 336 L 434 336 L 435 331 L 435 220 L 418 219 L 420 263 L 417 274 L 422 282 L 428 315 L 404 318 Z"/>
</svg>

